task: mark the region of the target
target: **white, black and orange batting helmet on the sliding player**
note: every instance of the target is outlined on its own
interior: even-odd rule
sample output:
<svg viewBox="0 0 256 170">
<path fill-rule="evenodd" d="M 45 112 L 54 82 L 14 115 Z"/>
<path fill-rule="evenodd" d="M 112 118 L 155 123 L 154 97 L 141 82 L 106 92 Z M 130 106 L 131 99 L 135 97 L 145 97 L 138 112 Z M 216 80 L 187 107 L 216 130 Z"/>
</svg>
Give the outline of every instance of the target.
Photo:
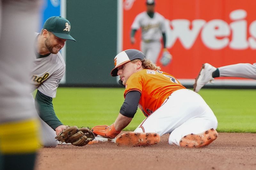
<svg viewBox="0 0 256 170">
<path fill-rule="evenodd" d="M 145 55 L 137 49 L 127 49 L 125 51 L 122 51 L 121 53 L 117 54 L 114 58 L 115 68 L 111 71 L 111 76 L 115 77 L 117 76 L 117 67 L 128 63 L 135 59 L 145 59 Z"/>
</svg>

